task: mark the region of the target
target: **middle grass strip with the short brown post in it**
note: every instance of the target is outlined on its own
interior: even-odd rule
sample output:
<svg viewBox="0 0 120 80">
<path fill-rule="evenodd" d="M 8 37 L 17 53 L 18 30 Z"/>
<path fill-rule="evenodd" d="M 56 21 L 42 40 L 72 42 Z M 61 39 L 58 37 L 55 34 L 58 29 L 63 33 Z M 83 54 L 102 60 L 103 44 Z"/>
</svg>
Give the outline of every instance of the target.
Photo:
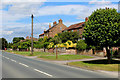
<svg viewBox="0 0 120 80">
<path fill-rule="evenodd" d="M 76 60 L 76 59 L 85 59 L 85 58 L 93 58 L 91 56 L 84 56 L 84 55 L 58 55 L 58 58 L 56 59 L 56 56 L 39 56 L 39 58 L 44 58 L 47 60 Z"/>
</svg>

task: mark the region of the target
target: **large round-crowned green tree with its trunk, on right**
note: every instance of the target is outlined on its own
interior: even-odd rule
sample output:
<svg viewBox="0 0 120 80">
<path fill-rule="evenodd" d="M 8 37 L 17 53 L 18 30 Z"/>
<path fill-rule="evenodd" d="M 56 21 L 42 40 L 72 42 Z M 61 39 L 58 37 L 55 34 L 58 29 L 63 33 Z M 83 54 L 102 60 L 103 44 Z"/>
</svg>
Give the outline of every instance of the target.
<svg viewBox="0 0 120 80">
<path fill-rule="evenodd" d="M 110 48 L 120 37 L 120 15 L 116 9 L 97 9 L 85 23 L 83 36 L 88 45 L 105 47 L 108 63 L 111 62 Z"/>
</svg>

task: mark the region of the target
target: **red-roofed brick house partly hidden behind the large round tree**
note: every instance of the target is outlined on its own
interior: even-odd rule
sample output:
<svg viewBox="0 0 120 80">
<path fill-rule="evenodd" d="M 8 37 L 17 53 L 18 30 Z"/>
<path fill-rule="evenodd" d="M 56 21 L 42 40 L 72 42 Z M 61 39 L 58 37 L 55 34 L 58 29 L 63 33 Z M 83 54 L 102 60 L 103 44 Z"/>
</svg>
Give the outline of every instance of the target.
<svg viewBox="0 0 120 80">
<path fill-rule="evenodd" d="M 88 21 L 87 17 L 85 18 L 85 22 L 86 21 Z M 63 32 L 65 32 L 65 31 L 78 32 L 81 35 L 83 33 L 83 31 L 84 31 L 85 22 L 70 25 L 69 27 L 64 29 Z M 81 36 L 81 38 L 82 38 L 82 36 Z"/>
</svg>

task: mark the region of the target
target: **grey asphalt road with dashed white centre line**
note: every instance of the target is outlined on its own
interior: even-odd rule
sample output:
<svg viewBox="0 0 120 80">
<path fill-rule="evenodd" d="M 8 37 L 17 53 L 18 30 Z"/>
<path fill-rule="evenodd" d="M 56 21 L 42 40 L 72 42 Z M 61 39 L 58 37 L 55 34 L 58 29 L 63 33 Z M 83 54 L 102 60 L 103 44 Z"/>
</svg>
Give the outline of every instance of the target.
<svg viewBox="0 0 120 80">
<path fill-rule="evenodd" d="M 2 78 L 117 78 L 117 76 L 2 52 Z"/>
</svg>

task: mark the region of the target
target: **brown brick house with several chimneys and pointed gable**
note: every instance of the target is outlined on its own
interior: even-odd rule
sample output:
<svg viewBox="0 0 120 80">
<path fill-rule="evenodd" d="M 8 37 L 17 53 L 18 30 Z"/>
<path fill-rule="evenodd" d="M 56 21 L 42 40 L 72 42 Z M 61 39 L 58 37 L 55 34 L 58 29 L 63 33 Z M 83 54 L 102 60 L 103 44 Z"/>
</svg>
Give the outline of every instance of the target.
<svg viewBox="0 0 120 80">
<path fill-rule="evenodd" d="M 51 24 L 49 24 L 49 29 L 48 30 L 44 30 L 44 33 L 40 34 L 39 38 L 43 38 L 44 36 L 54 37 L 56 34 L 62 33 L 62 31 L 65 28 L 67 28 L 67 27 L 63 24 L 62 19 L 59 19 L 58 23 L 56 21 L 53 22 L 53 26 L 51 26 Z"/>
</svg>

